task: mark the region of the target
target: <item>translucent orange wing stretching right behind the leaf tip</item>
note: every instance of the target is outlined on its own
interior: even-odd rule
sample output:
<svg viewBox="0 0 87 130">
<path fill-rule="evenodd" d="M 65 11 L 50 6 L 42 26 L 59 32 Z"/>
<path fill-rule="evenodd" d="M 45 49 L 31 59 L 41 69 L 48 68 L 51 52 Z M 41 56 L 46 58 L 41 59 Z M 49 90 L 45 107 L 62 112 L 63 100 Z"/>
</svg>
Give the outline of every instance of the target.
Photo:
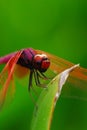
<svg viewBox="0 0 87 130">
<path fill-rule="evenodd" d="M 36 50 L 37 53 L 44 53 L 48 56 L 51 61 L 50 69 L 54 74 L 58 74 L 63 70 L 73 66 L 74 64 L 64 60 L 60 57 L 54 56 L 44 51 Z M 73 88 L 74 87 L 74 88 Z M 67 84 L 64 87 L 65 95 L 75 95 L 86 97 L 87 99 L 87 69 L 79 67 L 71 72 L 70 77 L 68 78 Z M 73 89 L 73 90 L 72 90 Z"/>
</svg>

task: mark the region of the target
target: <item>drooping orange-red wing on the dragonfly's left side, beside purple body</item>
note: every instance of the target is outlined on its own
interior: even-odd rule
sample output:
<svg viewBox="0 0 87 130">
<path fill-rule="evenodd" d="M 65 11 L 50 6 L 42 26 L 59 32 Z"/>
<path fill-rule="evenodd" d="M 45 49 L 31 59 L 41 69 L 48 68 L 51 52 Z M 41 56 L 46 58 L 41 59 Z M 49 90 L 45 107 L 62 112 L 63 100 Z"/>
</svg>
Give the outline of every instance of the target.
<svg viewBox="0 0 87 130">
<path fill-rule="evenodd" d="M 6 95 L 8 92 L 8 88 L 11 85 L 11 87 L 14 89 L 14 79 L 13 79 L 13 73 L 15 65 L 21 56 L 22 51 L 19 51 L 13 56 L 6 64 L 4 69 L 2 70 L 0 74 L 0 107 L 3 105 Z"/>
</svg>

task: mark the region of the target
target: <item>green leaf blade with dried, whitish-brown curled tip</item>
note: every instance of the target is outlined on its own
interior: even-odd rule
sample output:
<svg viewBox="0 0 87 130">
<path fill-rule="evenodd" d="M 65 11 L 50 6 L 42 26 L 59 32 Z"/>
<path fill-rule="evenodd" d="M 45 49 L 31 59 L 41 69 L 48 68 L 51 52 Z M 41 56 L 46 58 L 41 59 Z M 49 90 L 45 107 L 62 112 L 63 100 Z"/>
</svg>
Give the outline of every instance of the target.
<svg viewBox="0 0 87 130">
<path fill-rule="evenodd" d="M 75 65 L 59 75 L 57 75 L 44 89 L 37 101 L 37 107 L 35 107 L 31 130 L 49 130 L 53 111 L 56 102 L 60 96 L 63 85 L 65 84 L 69 73 L 73 71 L 79 65 Z"/>
</svg>

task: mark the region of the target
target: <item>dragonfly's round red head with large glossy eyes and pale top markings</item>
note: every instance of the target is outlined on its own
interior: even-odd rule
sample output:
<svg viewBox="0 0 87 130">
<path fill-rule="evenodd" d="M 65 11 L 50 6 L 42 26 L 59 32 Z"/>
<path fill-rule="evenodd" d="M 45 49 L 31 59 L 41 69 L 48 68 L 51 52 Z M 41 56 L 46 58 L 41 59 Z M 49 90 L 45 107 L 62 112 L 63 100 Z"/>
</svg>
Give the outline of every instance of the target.
<svg viewBox="0 0 87 130">
<path fill-rule="evenodd" d="M 34 56 L 33 65 L 40 72 L 45 72 L 50 66 L 50 60 L 45 54 L 37 54 Z"/>
</svg>

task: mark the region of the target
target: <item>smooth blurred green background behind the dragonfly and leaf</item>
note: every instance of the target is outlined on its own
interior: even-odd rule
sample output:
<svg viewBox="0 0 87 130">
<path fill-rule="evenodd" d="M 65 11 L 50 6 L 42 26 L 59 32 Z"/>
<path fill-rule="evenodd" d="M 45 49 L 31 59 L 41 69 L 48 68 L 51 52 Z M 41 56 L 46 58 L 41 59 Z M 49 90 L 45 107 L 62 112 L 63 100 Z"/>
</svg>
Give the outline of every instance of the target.
<svg viewBox="0 0 87 130">
<path fill-rule="evenodd" d="M 87 67 L 87 1 L 0 0 L 0 55 L 27 47 Z M 28 130 L 33 110 L 27 87 L 18 86 L 0 130 Z M 60 97 L 51 130 L 65 129 L 87 130 L 87 101 Z"/>
</svg>

